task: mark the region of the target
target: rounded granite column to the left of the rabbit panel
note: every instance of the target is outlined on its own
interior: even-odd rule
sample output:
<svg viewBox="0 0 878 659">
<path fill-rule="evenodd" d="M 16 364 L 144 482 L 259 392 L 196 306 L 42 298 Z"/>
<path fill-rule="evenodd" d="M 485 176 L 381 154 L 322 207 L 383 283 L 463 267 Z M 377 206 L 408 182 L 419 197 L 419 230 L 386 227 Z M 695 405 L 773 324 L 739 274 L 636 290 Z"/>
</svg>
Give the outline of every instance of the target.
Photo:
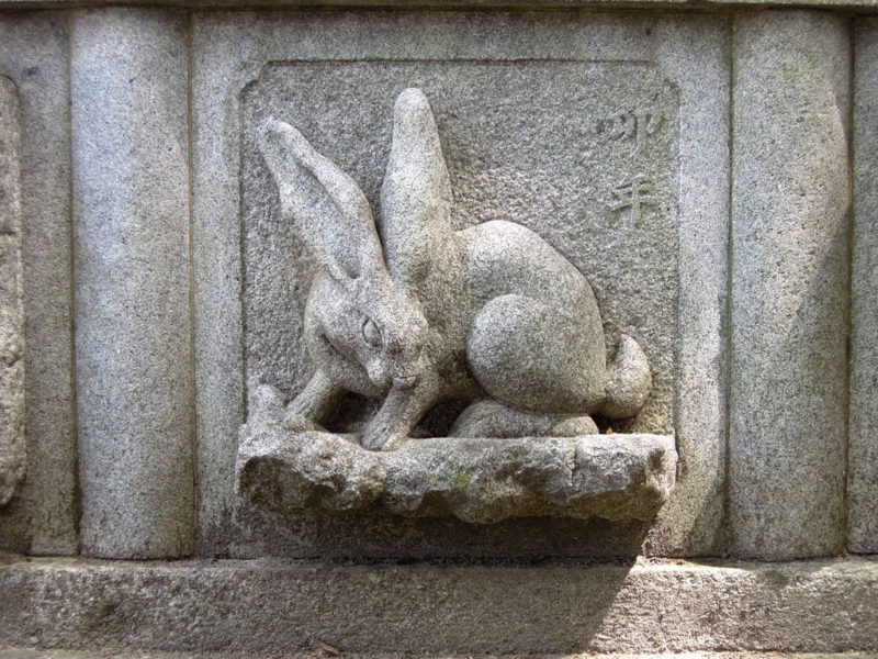
<svg viewBox="0 0 878 659">
<path fill-rule="evenodd" d="M 194 538 L 188 22 L 76 13 L 71 123 L 83 554 Z"/>
</svg>

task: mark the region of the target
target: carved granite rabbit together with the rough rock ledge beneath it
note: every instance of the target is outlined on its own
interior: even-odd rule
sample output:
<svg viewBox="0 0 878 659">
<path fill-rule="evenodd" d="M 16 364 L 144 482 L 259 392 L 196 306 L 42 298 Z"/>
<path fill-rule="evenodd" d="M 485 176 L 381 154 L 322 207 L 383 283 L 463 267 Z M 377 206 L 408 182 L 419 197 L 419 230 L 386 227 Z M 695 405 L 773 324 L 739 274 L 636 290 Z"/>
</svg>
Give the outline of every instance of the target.
<svg viewBox="0 0 878 659">
<path fill-rule="evenodd" d="M 646 356 L 622 335 L 608 359 L 592 287 L 533 231 L 503 220 L 453 230 L 419 89 L 394 107 L 376 220 L 353 179 L 295 127 L 267 120 L 259 148 L 283 220 L 320 266 L 304 312 L 315 372 L 289 404 L 250 383 L 239 493 L 283 512 L 381 502 L 480 523 L 657 510 L 673 484 L 673 438 L 608 439 L 592 418 L 644 405 Z M 381 403 L 362 433 L 328 433 L 346 392 Z M 470 404 L 448 437 L 413 439 L 451 399 Z"/>
</svg>

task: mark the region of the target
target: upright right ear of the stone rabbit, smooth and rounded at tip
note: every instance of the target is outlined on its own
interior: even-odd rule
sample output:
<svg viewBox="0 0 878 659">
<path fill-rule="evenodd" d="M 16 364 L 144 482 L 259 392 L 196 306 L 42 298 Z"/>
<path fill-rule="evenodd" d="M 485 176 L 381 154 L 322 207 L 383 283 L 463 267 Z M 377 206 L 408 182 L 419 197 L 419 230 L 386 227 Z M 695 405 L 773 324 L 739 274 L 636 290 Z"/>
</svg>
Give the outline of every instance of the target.
<svg viewBox="0 0 878 659">
<path fill-rule="evenodd" d="M 406 288 L 429 272 L 452 234 L 451 183 L 427 97 L 406 89 L 393 108 L 393 144 L 381 187 L 381 238 L 394 281 Z"/>
</svg>

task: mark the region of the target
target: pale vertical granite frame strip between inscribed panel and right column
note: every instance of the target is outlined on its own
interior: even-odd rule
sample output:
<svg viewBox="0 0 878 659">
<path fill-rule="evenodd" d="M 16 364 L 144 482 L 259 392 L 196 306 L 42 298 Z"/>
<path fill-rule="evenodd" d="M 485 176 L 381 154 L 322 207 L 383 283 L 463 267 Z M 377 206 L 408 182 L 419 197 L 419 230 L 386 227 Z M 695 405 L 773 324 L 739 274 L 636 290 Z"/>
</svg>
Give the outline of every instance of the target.
<svg viewBox="0 0 878 659">
<path fill-rule="evenodd" d="M 679 308 L 676 418 L 680 462 L 644 543 L 656 556 L 725 550 L 731 22 L 655 27 L 658 60 L 679 88 Z"/>
</svg>

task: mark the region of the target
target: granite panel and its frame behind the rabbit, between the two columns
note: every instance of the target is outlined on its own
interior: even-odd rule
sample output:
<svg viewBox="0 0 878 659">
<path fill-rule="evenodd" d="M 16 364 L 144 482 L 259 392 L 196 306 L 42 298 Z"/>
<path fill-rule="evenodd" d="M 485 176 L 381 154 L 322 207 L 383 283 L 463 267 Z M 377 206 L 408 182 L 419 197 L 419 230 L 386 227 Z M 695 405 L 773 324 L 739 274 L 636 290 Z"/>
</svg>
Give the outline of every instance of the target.
<svg viewBox="0 0 878 659">
<path fill-rule="evenodd" d="M 728 135 L 723 119 L 707 122 L 709 130 L 698 136 L 694 126 L 714 110 L 728 108 L 728 89 L 720 82 L 703 93 L 697 77 L 680 71 L 683 62 L 695 60 L 709 71 L 711 80 L 724 79 L 725 21 L 697 19 L 680 24 L 599 14 L 389 12 L 278 18 L 218 13 L 196 15 L 193 24 L 202 550 L 235 556 L 314 551 L 496 556 L 545 550 L 582 555 L 627 552 L 643 539 L 642 527 L 618 525 L 598 532 L 590 523 L 547 526 L 519 521 L 476 535 L 465 525 L 427 521 L 281 520 L 235 502 L 228 473 L 236 450 L 230 437 L 245 415 L 243 369 L 263 376 L 289 395 L 311 376 L 304 344 L 295 337 L 302 335 L 302 305 L 313 264 L 289 227 L 272 221 L 274 215 L 261 213 L 260 209 L 277 203 L 272 199 L 277 193 L 257 147 L 257 129 L 271 114 L 309 137 L 316 135 L 314 146 L 349 172 L 378 208 L 394 91 L 409 83 L 440 92 L 435 97 L 428 91 L 428 96 L 449 161 L 452 190 L 461 198 L 458 205 L 463 211 L 455 222 L 465 226 L 506 217 L 525 225 L 542 223 L 538 233 L 588 277 L 601 314 L 616 330 L 631 327 L 630 333 L 643 346 L 653 367 L 655 392 L 628 429 L 669 429 L 674 356 L 679 355 L 676 340 L 680 333 L 687 336 L 686 390 L 699 392 L 698 400 L 691 401 L 685 428 L 680 428 L 688 450 L 682 457 L 691 466 L 690 480 L 688 485 L 680 483 L 688 487 L 687 494 L 675 506 L 676 517 L 662 523 L 664 535 L 656 536 L 653 544 L 661 551 L 696 541 L 698 550 L 705 551 L 716 543 L 724 389 L 717 337 L 725 288 L 722 226 L 728 190 L 723 192 L 721 176 L 719 183 L 709 186 L 709 201 L 703 204 L 698 190 L 708 185 L 705 177 L 714 181 L 717 174 L 724 171 L 728 152 L 722 145 Z M 322 36 L 313 38 L 314 34 Z M 495 34 L 497 38 L 475 38 L 475 34 Z M 513 38 L 499 38 L 502 34 Z M 230 48 L 229 44 L 237 46 Z M 694 47 L 698 44 L 701 46 Z M 534 57 L 550 62 L 505 62 Z M 449 62 L 436 62 L 443 58 Z M 545 70 L 552 75 L 542 75 Z M 668 72 L 673 75 L 668 77 Z M 509 83 L 515 102 L 492 96 L 493 79 Z M 529 80 L 539 83 L 534 87 Z M 582 88 L 577 87 L 581 82 Z M 553 83 L 560 94 L 555 100 L 549 93 Z M 586 87 L 590 92 L 577 96 L 576 90 Z M 545 93 L 539 91 L 543 88 Z M 292 94 L 291 89 L 302 91 Z M 341 89 L 344 93 L 339 93 Z M 682 120 L 675 108 L 679 89 L 685 90 L 687 102 L 684 125 L 691 131 L 686 147 L 693 153 L 702 144 L 705 157 L 711 163 L 719 159 L 716 167 L 695 160 L 684 169 L 678 164 L 677 125 Z M 638 90 L 642 90 L 642 99 L 656 99 L 656 105 L 641 108 L 640 101 L 634 102 L 641 99 Z M 571 110 L 559 99 L 584 103 L 588 112 L 577 111 L 578 116 L 603 119 L 596 124 L 565 123 Z M 552 120 L 527 110 L 528 103 L 544 110 L 555 101 L 561 103 L 558 111 L 545 113 L 554 116 Z M 542 138 L 543 129 L 555 131 L 556 138 Z M 516 146 L 513 135 L 525 146 Z M 552 161 L 566 169 L 550 171 L 547 167 Z M 640 171 L 643 167 L 646 169 Z M 685 201 L 676 198 L 682 170 Z M 635 181 L 632 177 L 640 178 Z M 677 203 L 679 214 L 671 210 Z M 240 253 L 234 248 L 241 236 L 241 212 L 244 268 Z M 586 232 L 592 225 L 594 231 Z M 685 279 L 685 311 L 703 321 L 698 327 L 684 324 L 677 328 L 676 323 L 683 281 L 676 270 L 680 236 L 689 249 L 699 253 L 697 259 L 687 259 L 690 270 Z M 639 258 L 626 259 L 624 254 L 638 254 Z M 238 297 L 243 276 L 244 310 Z M 244 330 L 243 335 L 238 328 Z M 289 340 L 290 336 L 294 340 Z M 239 351 L 241 342 L 246 358 Z M 697 447 L 705 450 L 699 453 Z M 668 505 L 673 505 L 673 495 Z M 553 538 L 551 547 L 541 539 L 547 534 Z"/>
</svg>

